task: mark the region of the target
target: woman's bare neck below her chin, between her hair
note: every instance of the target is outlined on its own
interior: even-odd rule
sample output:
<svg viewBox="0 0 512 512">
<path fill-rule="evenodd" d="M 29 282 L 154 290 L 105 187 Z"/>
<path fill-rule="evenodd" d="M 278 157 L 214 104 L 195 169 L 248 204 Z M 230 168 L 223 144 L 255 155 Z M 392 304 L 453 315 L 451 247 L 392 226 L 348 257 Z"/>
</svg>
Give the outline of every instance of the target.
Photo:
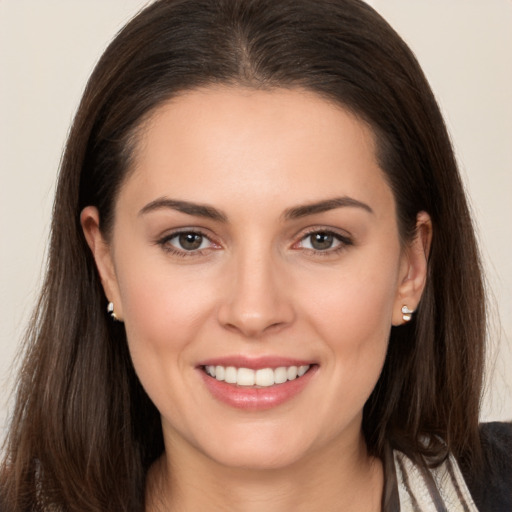
<svg viewBox="0 0 512 512">
<path fill-rule="evenodd" d="M 148 475 L 148 512 L 380 511 L 383 470 L 360 435 L 349 449 L 323 453 L 284 468 L 232 468 L 205 455 L 169 447 Z M 197 455 L 197 454 L 196 454 Z"/>
</svg>

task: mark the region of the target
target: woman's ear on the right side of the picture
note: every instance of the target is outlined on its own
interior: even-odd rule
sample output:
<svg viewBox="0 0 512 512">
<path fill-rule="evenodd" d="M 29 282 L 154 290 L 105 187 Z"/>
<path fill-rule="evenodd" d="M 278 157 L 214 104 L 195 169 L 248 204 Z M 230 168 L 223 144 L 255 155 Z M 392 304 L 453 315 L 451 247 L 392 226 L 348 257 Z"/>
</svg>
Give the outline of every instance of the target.
<svg viewBox="0 0 512 512">
<path fill-rule="evenodd" d="M 401 325 L 404 319 L 402 307 L 415 311 L 425 288 L 428 271 L 428 256 L 432 242 L 432 221 L 426 212 L 416 217 L 416 234 L 404 248 L 400 264 L 397 296 L 393 307 L 393 325 Z"/>
</svg>

